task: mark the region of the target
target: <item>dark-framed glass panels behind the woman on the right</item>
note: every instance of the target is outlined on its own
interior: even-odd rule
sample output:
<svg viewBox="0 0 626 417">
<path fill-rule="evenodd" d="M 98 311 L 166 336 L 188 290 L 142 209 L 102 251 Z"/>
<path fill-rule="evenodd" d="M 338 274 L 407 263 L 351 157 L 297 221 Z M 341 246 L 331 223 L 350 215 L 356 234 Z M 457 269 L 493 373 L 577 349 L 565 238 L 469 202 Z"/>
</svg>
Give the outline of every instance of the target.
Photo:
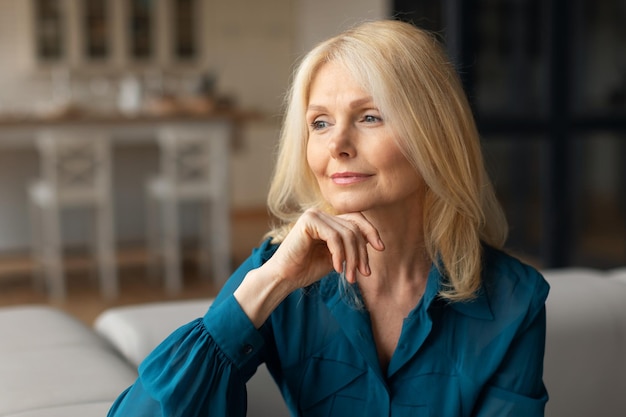
<svg viewBox="0 0 626 417">
<path fill-rule="evenodd" d="M 545 268 L 626 264 L 626 2 L 394 8 L 444 35 L 509 219 L 507 249 Z"/>
</svg>

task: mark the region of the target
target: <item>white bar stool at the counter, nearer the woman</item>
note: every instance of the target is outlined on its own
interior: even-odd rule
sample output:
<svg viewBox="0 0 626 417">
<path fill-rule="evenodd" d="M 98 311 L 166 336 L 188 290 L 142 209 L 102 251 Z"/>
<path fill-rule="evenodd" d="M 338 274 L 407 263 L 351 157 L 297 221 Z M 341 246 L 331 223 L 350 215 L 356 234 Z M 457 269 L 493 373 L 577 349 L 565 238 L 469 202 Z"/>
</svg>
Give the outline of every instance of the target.
<svg viewBox="0 0 626 417">
<path fill-rule="evenodd" d="M 210 128 L 170 126 L 158 133 L 161 171 L 146 186 L 148 267 L 153 276 L 163 270 L 169 294 L 183 287 L 182 204 L 201 208 L 201 273 L 212 272 L 216 283 L 230 275 L 229 132 L 228 125 L 216 123 Z"/>
</svg>

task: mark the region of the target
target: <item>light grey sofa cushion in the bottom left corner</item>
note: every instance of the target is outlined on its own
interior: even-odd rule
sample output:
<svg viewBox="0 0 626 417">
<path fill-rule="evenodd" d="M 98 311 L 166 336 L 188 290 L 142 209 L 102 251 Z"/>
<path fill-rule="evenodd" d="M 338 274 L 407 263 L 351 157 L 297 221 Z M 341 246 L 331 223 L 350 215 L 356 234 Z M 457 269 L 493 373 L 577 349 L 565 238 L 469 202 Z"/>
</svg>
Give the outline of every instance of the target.
<svg viewBox="0 0 626 417">
<path fill-rule="evenodd" d="M 60 310 L 5 308 L 0 330 L 0 416 L 94 402 L 110 406 L 137 377 L 103 339 Z"/>
</svg>

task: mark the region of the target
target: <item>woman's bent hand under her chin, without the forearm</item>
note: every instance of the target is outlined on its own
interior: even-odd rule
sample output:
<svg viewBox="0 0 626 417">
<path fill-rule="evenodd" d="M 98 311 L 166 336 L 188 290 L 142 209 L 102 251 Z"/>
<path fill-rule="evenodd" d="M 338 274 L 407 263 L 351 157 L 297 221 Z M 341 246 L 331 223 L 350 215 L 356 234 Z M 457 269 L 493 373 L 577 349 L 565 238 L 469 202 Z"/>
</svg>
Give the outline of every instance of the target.
<svg viewBox="0 0 626 417">
<path fill-rule="evenodd" d="M 307 210 L 264 267 L 294 288 L 306 287 L 333 269 L 354 283 L 357 271 L 365 276 L 371 273 L 368 244 L 384 249 L 378 230 L 363 214 L 333 216 Z"/>
</svg>

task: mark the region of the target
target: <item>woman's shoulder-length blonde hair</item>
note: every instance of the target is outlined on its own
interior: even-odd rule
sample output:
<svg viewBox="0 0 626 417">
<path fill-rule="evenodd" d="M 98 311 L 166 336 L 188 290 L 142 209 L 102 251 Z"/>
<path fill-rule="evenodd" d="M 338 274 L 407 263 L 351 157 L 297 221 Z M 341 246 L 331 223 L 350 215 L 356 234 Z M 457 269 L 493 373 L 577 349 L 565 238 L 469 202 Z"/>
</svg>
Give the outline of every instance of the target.
<svg viewBox="0 0 626 417">
<path fill-rule="evenodd" d="M 300 62 L 287 97 L 268 195 L 278 224 L 268 236 L 282 241 L 308 208 L 330 210 L 308 168 L 305 112 L 316 72 L 331 61 L 371 93 L 426 183 L 426 249 L 447 278 L 440 295 L 453 301 L 471 299 L 481 284 L 481 242 L 501 248 L 508 227 L 458 75 L 437 39 L 408 23 L 362 23 L 322 42 Z"/>
</svg>

